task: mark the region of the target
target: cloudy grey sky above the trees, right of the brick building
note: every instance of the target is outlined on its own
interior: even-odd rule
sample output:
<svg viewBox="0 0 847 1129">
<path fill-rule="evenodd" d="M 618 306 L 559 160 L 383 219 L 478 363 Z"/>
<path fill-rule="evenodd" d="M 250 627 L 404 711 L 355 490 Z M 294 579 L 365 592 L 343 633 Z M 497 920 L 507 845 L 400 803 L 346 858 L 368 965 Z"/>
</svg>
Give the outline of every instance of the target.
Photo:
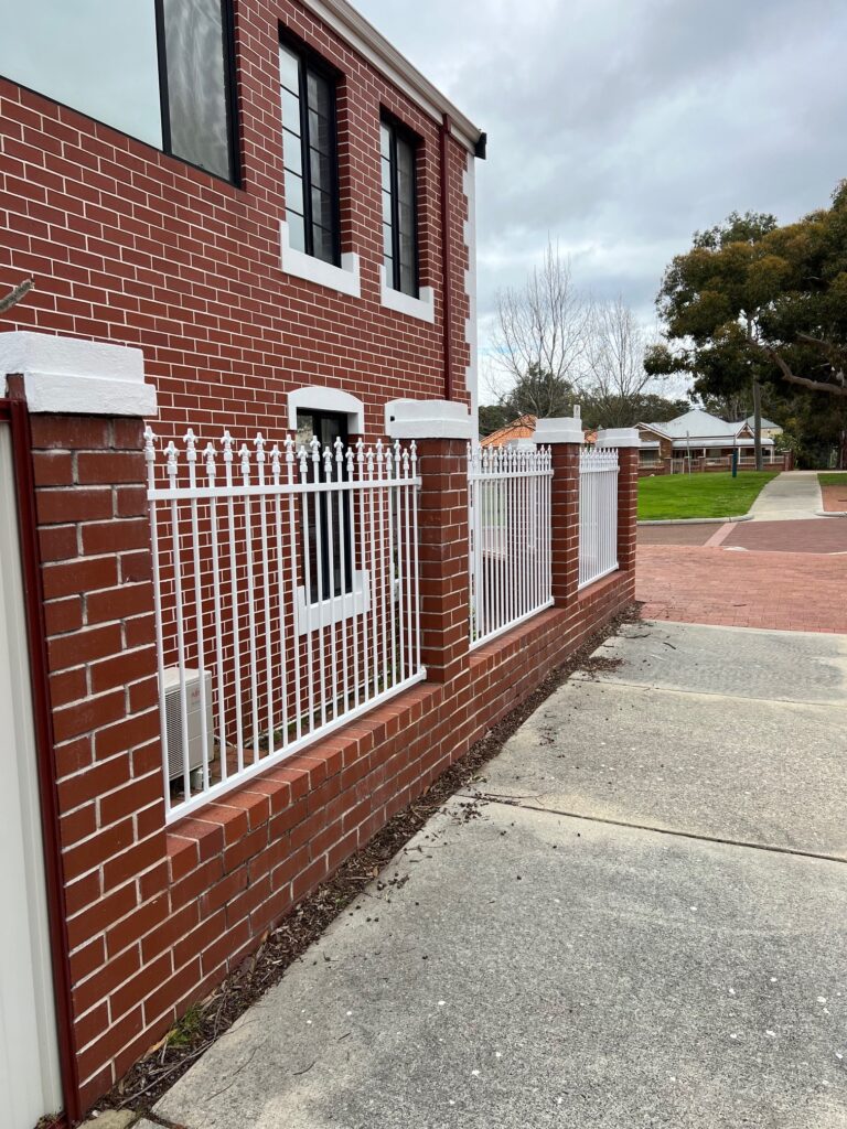
<svg viewBox="0 0 847 1129">
<path fill-rule="evenodd" d="M 841 0 L 353 0 L 477 125 L 480 345 L 548 238 L 645 326 L 733 210 L 789 222 L 847 176 Z"/>
</svg>

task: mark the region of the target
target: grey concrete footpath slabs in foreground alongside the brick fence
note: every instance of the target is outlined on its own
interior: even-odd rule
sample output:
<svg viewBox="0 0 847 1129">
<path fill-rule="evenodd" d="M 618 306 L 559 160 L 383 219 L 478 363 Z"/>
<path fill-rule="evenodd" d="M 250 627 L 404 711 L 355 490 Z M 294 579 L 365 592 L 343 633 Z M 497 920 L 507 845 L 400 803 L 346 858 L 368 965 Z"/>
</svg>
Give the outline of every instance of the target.
<svg viewBox="0 0 847 1129">
<path fill-rule="evenodd" d="M 847 637 L 599 655 L 157 1123 L 847 1127 Z"/>
</svg>

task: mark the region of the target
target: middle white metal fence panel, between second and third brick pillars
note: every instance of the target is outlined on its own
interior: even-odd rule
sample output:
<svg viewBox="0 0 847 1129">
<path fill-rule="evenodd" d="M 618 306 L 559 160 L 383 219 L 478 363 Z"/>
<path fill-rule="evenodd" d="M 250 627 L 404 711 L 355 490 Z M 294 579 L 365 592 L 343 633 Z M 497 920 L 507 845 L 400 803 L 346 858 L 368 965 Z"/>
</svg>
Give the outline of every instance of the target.
<svg viewBox="0 0 847 1129">
<path fill-rule="evenodd" d="M 552 604 L 550 448 L 468 447 L 471 647 Z"/>
</svg>

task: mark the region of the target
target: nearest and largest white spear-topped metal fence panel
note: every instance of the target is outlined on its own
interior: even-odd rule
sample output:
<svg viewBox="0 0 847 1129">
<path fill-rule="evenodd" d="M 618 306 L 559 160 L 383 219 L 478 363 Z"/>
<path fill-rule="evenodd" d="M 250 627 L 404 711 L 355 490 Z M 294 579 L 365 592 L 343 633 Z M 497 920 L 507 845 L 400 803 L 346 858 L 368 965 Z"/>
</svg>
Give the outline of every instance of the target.
<svg viewBox="0 0 847 1129">
<path fill-rule="evenodd" d="M 147 430 L 168 819 L 426 676 L 414 443 L 252 446 Z"/>
</svg>

